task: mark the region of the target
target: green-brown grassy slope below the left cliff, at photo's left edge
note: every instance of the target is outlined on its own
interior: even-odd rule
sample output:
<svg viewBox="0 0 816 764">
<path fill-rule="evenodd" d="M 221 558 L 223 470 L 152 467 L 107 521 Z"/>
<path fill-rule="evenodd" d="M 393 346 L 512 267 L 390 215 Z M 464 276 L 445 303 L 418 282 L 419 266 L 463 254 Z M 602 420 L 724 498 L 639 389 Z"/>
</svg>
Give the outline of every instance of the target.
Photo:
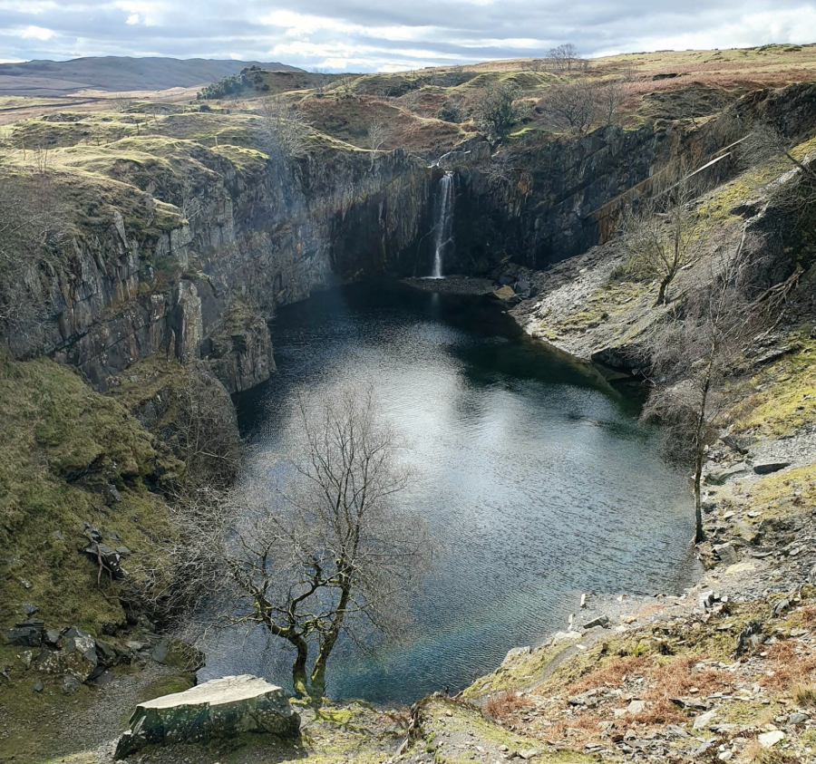
<svg viewBox="0 0 816 764">
<path fill-rule="evenodd" d="M 83 524 L 138 559 L 170 533 L 165 505 L 149 486 L 170 485 L 183 465 L 121 403 L 91 390 L 78 372 L 39 359 L 0 358 L 0 546 L 7 585 L 0 624 L 39 607 L 49 628 L 76 625 L 101 636 L 124 622 L 119 585 L 83 555 Z M 121 499 L 107 506 L 97 488 Z M 110 536 L 113 532 L 121 540 Z"/>
</svg>

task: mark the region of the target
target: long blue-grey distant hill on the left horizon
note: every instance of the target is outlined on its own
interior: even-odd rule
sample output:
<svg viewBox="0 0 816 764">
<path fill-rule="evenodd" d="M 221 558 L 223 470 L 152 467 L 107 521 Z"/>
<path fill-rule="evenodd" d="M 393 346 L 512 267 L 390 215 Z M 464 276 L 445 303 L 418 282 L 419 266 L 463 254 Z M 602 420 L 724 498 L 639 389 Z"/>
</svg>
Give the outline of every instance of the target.
<svg viewBox="0 0 816 764">
<path fill-rule="evenodd" d="M 300 72 L 285 63 L 207 58 L 131 58 L 104 56 L 72 61 L 0 64 L 2 95 L 64 95 L 85 88 L 108 92 L 189 88 L 237 74 L 246 66 Z"/>
</svg>

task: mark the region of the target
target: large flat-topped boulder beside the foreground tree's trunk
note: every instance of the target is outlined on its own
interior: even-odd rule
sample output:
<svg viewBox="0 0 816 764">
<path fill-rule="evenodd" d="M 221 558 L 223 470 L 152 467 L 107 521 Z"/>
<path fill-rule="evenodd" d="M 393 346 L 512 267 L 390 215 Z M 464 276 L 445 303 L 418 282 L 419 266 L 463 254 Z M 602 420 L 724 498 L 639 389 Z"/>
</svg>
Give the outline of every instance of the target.
<svg viewBox="0 0 816 764">
<path fill-rule="evenodd" d="M 280 687 L 248 674 L 225 676 L 138 705 L 115 758 L 151 744 L 202 742 L 240 732 L 294 738 L 299 730 L 300 717 Z"/>
</svg>

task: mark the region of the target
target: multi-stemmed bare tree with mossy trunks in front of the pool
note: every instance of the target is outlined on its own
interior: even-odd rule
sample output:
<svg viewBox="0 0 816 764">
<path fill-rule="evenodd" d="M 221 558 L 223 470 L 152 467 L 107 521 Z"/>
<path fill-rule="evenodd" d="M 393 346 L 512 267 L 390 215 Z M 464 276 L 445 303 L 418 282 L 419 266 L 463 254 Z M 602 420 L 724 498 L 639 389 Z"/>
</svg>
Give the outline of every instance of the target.
<svg viewBox="0 0 816 764">
<path fill-rule="evenodd" d="M 300 401 L 296 419 L 273 496 L 182 506 L 168 558 L 193 602 L 287 643 L 296 691 L 321 697 L 341 633 L 393 633 L 428 543 L 418 514 L 394 501 L 408 473 L 371 392 Z"/>
</svg>

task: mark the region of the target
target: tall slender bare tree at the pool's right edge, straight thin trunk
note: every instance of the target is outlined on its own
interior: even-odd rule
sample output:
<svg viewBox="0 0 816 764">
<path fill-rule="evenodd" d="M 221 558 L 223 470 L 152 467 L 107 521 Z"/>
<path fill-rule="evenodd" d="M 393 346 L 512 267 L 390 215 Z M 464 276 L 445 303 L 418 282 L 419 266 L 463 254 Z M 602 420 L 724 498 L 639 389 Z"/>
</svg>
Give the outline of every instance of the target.
<svg viewBox="0 0 816 764">
<path fill-rule="evenodd" d="M 738 400 L 730 375 L 753 337 L 755 243 L 743 229 L 738 245 L 719 248 L 690 290 L 681 317 L 651 334 L 647 352 L 656 386 L 644 414 L 662 421 L 672 450 L 693 465 L 695 543 L 704 541 L 701 484 L 705 452 Z"/>
</svg>

